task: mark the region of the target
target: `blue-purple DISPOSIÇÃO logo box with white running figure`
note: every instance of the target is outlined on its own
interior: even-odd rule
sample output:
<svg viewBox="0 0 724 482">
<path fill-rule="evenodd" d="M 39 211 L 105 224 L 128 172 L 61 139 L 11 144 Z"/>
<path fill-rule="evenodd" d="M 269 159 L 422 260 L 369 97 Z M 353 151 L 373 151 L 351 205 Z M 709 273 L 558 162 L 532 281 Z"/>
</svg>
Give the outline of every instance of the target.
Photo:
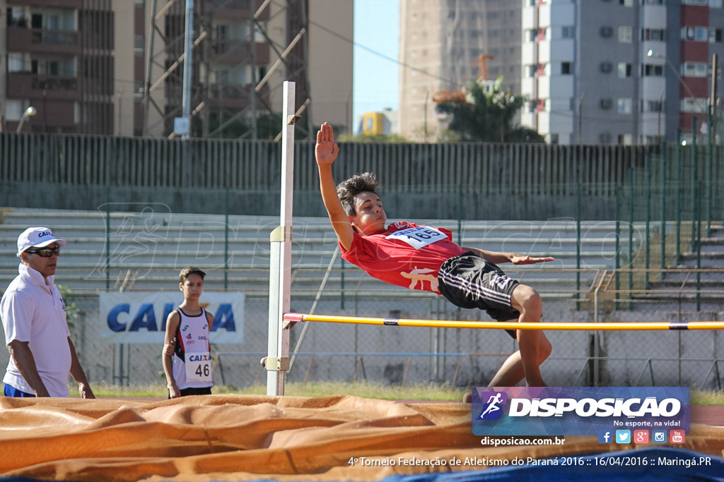
<svg viewBox="0 0 724 482">
<path fill-rule="evenodd" d="M 616 430 L 689 433 L 686 387 L 476 387 L 475 435 L 597 435 Z"/>
</svg>

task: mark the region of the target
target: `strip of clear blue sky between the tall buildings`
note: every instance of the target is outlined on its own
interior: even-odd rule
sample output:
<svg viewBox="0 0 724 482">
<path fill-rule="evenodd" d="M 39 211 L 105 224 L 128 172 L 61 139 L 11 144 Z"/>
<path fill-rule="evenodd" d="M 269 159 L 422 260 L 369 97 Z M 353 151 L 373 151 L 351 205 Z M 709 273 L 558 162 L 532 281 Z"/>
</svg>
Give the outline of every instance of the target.
<svg viewBox="0 0 724 482">
<path fill-rule="evenodd" d="M 362 113 L 397 110 L 399 0 L 355 0 L 353 121 Z"/>
</svg>

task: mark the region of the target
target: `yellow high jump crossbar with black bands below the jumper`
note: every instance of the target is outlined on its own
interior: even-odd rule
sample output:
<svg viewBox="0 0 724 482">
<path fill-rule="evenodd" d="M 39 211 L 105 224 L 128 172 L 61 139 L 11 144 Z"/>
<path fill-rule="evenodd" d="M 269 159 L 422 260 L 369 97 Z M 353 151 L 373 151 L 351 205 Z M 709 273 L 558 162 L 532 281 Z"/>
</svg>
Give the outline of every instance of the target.
<svg viewBox="0 0 724 482">
<path fill-rule="evenodd" d="M 324 314 L 287 313 L 287 322 L 327 322 L 348 324 L 378 324 L 393 327 L 433 327 L 433 328 L 482 328 L 488 330 L 723 330 L 724 322 L 598 322 L 598 323 L 521 323 L 521 322 L 468 322 L 449 319 L 401 319 L 334 317 Z"/>
</svg>

